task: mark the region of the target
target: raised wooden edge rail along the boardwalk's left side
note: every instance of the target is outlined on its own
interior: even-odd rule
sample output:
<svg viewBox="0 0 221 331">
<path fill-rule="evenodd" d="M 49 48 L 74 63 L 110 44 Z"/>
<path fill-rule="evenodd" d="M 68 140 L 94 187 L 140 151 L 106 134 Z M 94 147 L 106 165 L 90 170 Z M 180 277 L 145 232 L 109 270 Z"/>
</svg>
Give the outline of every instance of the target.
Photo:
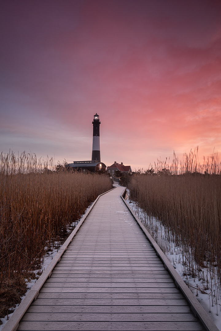
<svg viewBox="0 0 221 331">
<path fill-rule="evenodd" d="M 48 266 L 43 271 L 41 276 L 38 278 L 36 283 L 30 289 L 30 291 L 28 292 L 28 294 L 26 295 L 24 300 L 21 302 L 21 304 L 18 306 L 18 308 L 14 311 L 13 315 L 9 318 L 7 323 L 3 326 L 2 331 L 16 331 L 18 329 L 19 322 L 22 319 L 23 315 L 25 314 L 26 310 L 31 305 L 31 303 L 33 301 L 35 301 L 35 299 L 37 298 L 40 289 L 42 288 L 42 286 L 44 285 L 46 280 L 51 276 L 52 270 L 54 269 L 55 265 L 61 260 L 61 256 L 67 250 L 68 245 L 72 242 L 74 236 L 78 232 L 79 228 L 83 224 L 83 222 L 86 219 L 86 217 L 88 216 L 88 214 L 91 212 L 92 208 L 94 207 L 94 205 L 97 202 L 97 200 L 99 199 L 99 197 L 106 194 L 107 192 L 110 192 L 110 191 L 114 190 L 115 188 L 116 187 L 114 187 L 111 190 L 106 191 L 106 192 L 98 195 L 98 197 L 92 203 L 92 205 L 90 206 L 88 211 L 83 215 L 83 218 L 81 219 L 81 221 L 78 223 L 78 225 L 72 231 L 70 236 L 67 238 L 67 240 L 64 242 L 64 244 L 61 246 L 61 248 L 59 249 L 59 251 L 57 252 L 55 257 L 53 258 L 53 260 L 48 264 Z"/>
</svg>

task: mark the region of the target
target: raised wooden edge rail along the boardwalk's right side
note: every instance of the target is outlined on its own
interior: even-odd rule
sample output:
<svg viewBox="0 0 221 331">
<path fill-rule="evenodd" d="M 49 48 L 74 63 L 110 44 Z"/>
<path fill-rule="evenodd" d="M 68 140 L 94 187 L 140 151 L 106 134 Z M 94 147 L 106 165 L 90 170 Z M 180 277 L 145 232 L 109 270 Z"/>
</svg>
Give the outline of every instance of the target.
<svg viewBox="0 0 221 331">
<path fill-rule="evenodd" d="M 173 277 L 173 279 L 175 281 L 175 285 L 184 294 L 185 298 L 187 299 L 187 301 L 189 302 L 189 304 L 191 306 L 191 309 L 192 309 L 193 313 L 200 319 L 200 321 L 202 322 L 203 326 L 206 328 L 207 331 L 219 331 L 219 329 L 214 324 L 212 319 L 209 317 L 207 312 L 204 310 L 204 308 L 200 305 L 200 303 L 198 302 L 196 297 L 193 295 L 193 293 L 191 292 L 189 287 L 186 285 L 186 283 L 183 281 L 183 279 L 180 277 L 180 275 L 174 269 L 174 267 L 172 266 L 171 262 L 168 260 L 166 255 L 161 251 L 160 247 L 157 245 L 155 240 L 151 237 L 151 235 L 149 234 L 149 232 L 147 231 L 145 226 L 142 224 L 140 219 L 137 217 L 136 213 L 126 203 L 126 201 L 124 199 L 126 189 L 127 188 L 125 188 L 124 192 L 121 195 L 122 200 L 124 201 L 125 205 L 129 209 L 129 211 L 134 216 L 135 220 L 137 221 L 139 227 L 141 228 L 141 230 L 143 231 L 143 233 L 145 234 L 147 239 L 150 241 L 151 246 L 155 249 L 157 255 L 159 256 L 159 258 L 164 263 L 165 268 L 169 271 L 169 273 Z"/>
</svg>

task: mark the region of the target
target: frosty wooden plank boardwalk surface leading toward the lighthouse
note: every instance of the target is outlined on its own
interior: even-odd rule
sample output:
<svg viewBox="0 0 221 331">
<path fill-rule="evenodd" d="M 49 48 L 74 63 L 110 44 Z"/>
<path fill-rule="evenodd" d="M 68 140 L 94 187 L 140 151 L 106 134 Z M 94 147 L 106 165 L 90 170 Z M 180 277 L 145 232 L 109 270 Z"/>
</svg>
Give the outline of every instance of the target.
<svg viewBox="0 0 221 331">
<path fill-rule="evenodd" d="M 123 191 L 99 197 L 18 330 L 218 330 L 193 314 Z"/>
</svg>

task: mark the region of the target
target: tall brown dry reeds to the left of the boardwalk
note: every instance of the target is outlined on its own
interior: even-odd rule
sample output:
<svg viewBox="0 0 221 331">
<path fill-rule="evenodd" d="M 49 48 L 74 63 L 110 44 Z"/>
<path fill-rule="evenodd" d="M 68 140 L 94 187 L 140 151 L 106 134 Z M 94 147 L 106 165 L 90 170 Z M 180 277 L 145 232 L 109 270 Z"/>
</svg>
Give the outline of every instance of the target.
<svg viewBox="0 0 221 331">
<path fill-rule="evenodd" d="M 96 197 L 111 188 L 105 175 L 54 171 L 34 154 L 0 155 L 1 317 L 19 302 L 24 278 L 40 268 L 47 249 Z"/>
</svg>

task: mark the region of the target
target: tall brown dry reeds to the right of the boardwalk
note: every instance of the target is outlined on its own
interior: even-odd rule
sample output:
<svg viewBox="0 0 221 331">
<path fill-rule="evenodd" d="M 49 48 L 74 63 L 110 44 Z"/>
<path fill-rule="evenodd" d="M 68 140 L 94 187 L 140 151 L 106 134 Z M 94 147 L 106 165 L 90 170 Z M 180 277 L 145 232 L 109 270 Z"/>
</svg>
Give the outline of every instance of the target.
<svg viewBox="0 0 221 331">
<path fill-rule="evenodd" d="M 146 220 L 156 218 L 165 227 L 167 238 L 181 247 L 186 273 L 195 277 L 207 268 L 220 291 L 220 165 L 214 165 L 214 159 L 213 166 L 208 162 L 200 165 L 202 174 L 196 171 L 199 165 L 194 160 L 188 156 L 186 165 L 181 163 L 180 175 L 172 175 L 174 172 L 166 162 L 159 162 L 155 173 L 134 174 L 128 185 L 130 199 L 144 211 Z"/>
</svg>

